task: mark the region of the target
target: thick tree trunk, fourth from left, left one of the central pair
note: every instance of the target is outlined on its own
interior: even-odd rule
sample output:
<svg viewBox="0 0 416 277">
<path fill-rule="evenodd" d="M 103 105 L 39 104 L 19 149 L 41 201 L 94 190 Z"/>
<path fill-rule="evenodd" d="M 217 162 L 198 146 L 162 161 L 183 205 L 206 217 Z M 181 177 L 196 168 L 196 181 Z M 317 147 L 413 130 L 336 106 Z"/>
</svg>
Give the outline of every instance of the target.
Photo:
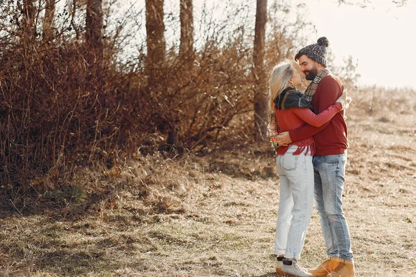
<svg viewBox="0 0 416 277">
<path fill-rule="evenodd" d="M 146 71 L 149 87 L 155 87 L 162 77 L 166 56 L 164 39 L 164 0 L 146 0 L 147 58 Z"/>
</svg>

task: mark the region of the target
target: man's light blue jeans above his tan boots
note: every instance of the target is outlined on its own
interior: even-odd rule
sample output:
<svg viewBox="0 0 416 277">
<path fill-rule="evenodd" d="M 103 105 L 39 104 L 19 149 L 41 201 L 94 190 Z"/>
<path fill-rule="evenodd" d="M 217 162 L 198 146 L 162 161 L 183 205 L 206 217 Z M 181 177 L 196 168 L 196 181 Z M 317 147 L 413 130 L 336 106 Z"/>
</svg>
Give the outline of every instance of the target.
<svg viewBox="0 0 416 277">
<path fill-rule="evenodd" d="M 315 206 L 329 257 L 352 260 L 351 238 L 343 211 L 347 152 L 313 157 Z"/>
</svg>

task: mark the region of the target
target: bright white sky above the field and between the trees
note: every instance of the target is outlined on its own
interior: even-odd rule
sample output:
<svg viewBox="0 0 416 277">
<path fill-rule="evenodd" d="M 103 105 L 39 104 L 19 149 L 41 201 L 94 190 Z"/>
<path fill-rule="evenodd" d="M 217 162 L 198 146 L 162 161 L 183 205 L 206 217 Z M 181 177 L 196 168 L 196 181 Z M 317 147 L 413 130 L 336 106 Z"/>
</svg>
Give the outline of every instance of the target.
<svg viewBox="0 0 416 277">
<path fill-rule="evenodd" d="M 135 1 L 144 7 L 145 0 Z M 246 0 L 231 1 L 239 5 Z M 253 15 L 250 15 L 250 19 L 255 17 L 256 6 L 256 2 L 251 1 Z M 268 4 L 273 1 L 275 0 L 268 0 Z M 361 74 L 359 84 L 416 89 L 416 72 L 413 66 L 416 64 L 416 51 L 413 50 L 416 48 L 416 0 L 408 0 L 403 7 L 398 7 L 392 0 L 371 2 L 369 7 L 361 8 L 339 5 L 338 0 L 291 0 L 293 5 L 306 4 L 309 12 L 305 15 L 305 20 L 315 25 L 316 32 L 308 35 L 307 43 L 316 43 L 319 37 L 325 36 L 329 39 L 331 52 L 338 59 L 336 62 L 342 62 L 343 57 L 352 55 L 354 61 L 358 61 L 357 71 Z M 194 16 L 200 15 L 203 3 L 207 6 L 221 5 L 221 1 L 217 0 L 193 0 Z M 216 11 L 218 18 L 224 17 L 221 11 Z M 165 0 L 165 17 L 166 12 L 179 21 L 179 0 Z M 167 29 L 166 36 L 169 33 L 173 33 L 173 40 L 179 39 L 176 30 Z"/>
</svg>

